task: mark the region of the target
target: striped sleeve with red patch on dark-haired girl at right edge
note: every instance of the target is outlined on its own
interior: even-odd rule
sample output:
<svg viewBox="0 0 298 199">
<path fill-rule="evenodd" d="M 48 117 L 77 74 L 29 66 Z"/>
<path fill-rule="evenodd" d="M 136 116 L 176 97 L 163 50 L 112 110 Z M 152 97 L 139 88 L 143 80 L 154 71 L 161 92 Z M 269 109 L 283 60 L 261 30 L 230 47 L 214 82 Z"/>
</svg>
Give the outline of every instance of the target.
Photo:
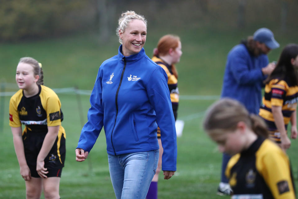
<svg viewBox="0 0 298 199">
<path fill-rule="evenodd" d="M 282 106 L 283 96 L 286 95 L 288 85 L 285 81 L 279 81 L 271 87 L 271 105 Z"/>
</svg>

